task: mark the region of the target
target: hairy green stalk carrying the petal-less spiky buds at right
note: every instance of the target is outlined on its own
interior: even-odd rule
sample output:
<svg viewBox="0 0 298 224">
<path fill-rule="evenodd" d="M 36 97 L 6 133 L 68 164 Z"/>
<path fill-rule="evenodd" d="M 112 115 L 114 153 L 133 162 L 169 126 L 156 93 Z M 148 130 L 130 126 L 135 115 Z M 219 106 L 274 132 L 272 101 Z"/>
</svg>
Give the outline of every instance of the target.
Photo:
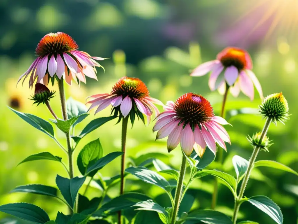
<svg viewBox="0 0 298 224">
<path fill-rule="evenodd" d="M 267 118 L 266 123 L 264 125 L 264 128 L 262 130 L 261 136 L 260 136 L 259 144 L 261 144 L 264 137 L 266 136 L 271 121 L 272 120 L 270 118 Z M 254 168 L 254 162 L 257 158 L 257 155 L 258 155 L 259 151 L 260 151 L 260 146 L 254 147 L 254 151 L 252 152 L 252 156 L 249 159 L 249 165 L 248 165 L 247 170 L 245 172 L 245 176 L 243 178 L 238 197 L 235 198 L 234 214 L 233 214 L 233 217 L 232 217 L 233 224 L 236 224 L 236 222 L 237 222 L 237 215 L 238 215 L 238 212 L 239 212 L 239 208 L 240 208 L 241 203 L 243 202 L 243 194 L 244 194 L 247 182 L 249 180 L 249 176 L 252 172 L 252 169 Z"/>
</svg>

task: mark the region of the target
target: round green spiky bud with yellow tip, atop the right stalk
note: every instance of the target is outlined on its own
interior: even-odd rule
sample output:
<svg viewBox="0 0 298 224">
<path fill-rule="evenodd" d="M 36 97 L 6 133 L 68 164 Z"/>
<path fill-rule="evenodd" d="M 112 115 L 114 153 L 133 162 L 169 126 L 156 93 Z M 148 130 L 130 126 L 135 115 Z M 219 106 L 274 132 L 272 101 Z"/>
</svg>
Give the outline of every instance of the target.
<svg viewBox="0 0 298 224">
<path fill-rule="evenodd" d="M 259 106 L 260 113 L 271 119 L 275 124 L 277 121 L 284 122 L 289 117 L 288 102 L 283 93 L 274 93 L 267 96 L 262 105 Z"/>
</svg>

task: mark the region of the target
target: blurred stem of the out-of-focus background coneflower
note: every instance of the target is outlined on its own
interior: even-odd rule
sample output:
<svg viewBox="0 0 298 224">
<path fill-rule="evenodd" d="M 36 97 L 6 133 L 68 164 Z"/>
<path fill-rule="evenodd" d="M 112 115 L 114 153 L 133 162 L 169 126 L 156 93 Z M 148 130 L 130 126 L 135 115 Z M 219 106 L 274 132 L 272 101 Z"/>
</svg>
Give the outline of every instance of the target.
<svg viewBox="0 0 298 224">
<path fill-rule="evenodd" d="M 226 91 L 224 93 L 223 103 L 221 105 L 221 117 L 225 117 L 225 107 L 226 107 L 226 99 L 228 97 L 230 86 L 226 83 Z M 218 162 L 222 164 L 223 162 L 223 153 L 224 149 L 218 148 Z M 214 190 L 212 194 L 212 202 L 211 202 L 211 209 L 215 209 L 218 197 L 218 179 L 215 178 L 214 180 Z"/>
</svg>

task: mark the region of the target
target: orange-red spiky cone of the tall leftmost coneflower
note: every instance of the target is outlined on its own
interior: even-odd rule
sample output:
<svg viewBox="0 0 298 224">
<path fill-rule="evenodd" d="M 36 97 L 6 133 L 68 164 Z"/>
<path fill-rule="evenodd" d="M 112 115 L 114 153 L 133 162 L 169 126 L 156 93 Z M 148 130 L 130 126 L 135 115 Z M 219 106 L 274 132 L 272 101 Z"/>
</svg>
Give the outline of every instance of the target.
<svg viewBox="0 0 298 224">
<path fill-rule="evenodd" d="M 71 50 L 77 50 L 79 45 L 66 33 L 48 33 L 38 43 L 35 53 L 38 56 L 48 54 L 68 53 Z"/>
</svg>

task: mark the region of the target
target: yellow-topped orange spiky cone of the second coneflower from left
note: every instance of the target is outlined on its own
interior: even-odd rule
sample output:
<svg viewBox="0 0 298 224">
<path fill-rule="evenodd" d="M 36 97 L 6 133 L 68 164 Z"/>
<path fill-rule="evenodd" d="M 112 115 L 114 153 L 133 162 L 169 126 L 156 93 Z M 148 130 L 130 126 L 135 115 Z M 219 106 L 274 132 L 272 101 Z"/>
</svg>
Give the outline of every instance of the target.
<svg viewBox="0 0 298 224">
<path fill-rule="evenodd" d="M 149 90 L 144 82 L 138 78 L 123 77 L 113 86 L 112 94 L 141 99 L 149 96 Z"/>
</svg>

